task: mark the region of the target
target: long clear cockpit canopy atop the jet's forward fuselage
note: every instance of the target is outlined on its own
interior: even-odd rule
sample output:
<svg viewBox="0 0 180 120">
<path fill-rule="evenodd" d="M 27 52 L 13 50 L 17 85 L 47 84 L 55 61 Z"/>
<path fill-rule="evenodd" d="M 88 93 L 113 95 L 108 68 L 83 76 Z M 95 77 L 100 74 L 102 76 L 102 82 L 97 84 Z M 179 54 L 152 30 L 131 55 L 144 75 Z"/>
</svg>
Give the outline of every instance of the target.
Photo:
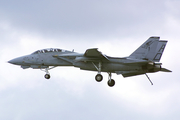
<svg viewBox="0 0 180 120">
<path fill-rule="evenodd" d="M 33 52 L 32 54 L 49 53 L 49 52 L 68 52 L 68 51 L 63 50 L 63 49 L 58 49 L 58 48 L 48 48 L 48 49 L 37 50 Z"/>
</svg>

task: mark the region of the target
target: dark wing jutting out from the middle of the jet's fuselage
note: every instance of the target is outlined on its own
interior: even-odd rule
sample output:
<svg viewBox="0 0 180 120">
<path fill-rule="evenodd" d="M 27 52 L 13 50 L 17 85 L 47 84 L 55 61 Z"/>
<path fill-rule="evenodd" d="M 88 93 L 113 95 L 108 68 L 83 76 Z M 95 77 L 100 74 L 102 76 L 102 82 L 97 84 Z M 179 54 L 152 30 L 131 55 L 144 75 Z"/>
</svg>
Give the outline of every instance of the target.
<svg viewBox="0 0 180 120">
<path fill-rule="evenodd" d="M 103 55 L 100 51 L 98 51 L 98 48 L 92 48 L 92 49 L 87 49 L 86 52 L 84 53 L 85 57 L 95 57 L 99 59 L 106 59 L 109 61 L 108 57 L 106 55 Z"/>
</svg>

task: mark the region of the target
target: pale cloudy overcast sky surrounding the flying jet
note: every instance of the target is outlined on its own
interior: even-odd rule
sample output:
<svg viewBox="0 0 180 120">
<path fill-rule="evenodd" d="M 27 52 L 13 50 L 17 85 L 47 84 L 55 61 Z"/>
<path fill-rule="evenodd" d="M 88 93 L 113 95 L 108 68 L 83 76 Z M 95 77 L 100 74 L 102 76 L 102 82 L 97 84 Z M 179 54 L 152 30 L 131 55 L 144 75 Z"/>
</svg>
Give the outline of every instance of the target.
<svg viewBox="0 0 180 120">
<path fill-rule="evenodd" d="M 1 0 L 1 120 L 178 120 L 180 119 L 179 0 Z M 73 67 L 40 70 L 8 64 L 42 48 L 97 47 L 124 57 L 150 36 L 168 40 L 161 62 L 172 73 L 123 78 L 116 85 L 94 80 L 96 72 Z"/>
</svg>

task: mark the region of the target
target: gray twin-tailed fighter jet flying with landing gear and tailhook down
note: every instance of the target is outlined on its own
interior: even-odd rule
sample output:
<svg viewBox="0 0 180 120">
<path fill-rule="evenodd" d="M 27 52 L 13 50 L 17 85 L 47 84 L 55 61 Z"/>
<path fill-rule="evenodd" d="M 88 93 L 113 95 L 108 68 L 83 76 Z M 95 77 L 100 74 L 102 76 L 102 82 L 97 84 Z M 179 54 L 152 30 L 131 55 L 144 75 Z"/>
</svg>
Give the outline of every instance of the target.
<svg viewBox="0 0 180 120">
<path fill-rule="evenodd" d="M 138 49 L 128 57 L 110 57 L 98 51 L 98 48 L 87 49 L 85 53 L 49 48 L 33 52 L 30 55 L 18 57 L 8 61 L 11 64 L 20 65 L 21 68 L 41 69 L 46 72 L 45 78 L 50 79 L 49 70 L 58 66 L 74 66 L 81 70 L 97 71 L 95 80 L 101 82 L 101 72 L 108 73 L 108 85 L 115 85 L 112 73 L 131 77 L 145 74 L 153 85 L 147 73 L 172 72 L 162 68 L 161 56 L 167 44 L 160 37 L 150 37 Z"/>
</svg>

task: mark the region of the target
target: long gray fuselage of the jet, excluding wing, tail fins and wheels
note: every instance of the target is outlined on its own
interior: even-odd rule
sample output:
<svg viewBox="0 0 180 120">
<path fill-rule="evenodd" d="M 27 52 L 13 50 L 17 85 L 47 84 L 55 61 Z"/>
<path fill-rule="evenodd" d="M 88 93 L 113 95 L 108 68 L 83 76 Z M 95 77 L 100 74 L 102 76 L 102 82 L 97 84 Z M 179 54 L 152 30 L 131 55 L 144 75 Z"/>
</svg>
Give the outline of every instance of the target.
<svg viewBox="0 0 180 120">
<path fill-rule="evenodd" d="M 73 54 L 71 56 L 64 56 L 66 54 Z M 56 56 L 62 57 L 56 57 Z M 146 62 L 146 60 L 136 60 L 130 58 L 115 58 L 108 57 L 108 61 L 102 59 L 102 61 L 98 61 L 93 58 L 86 58 L 83 54 L 67 51 L 67 50 L 59 50 L 55 51 L 36 51 L 30 55 L 22 56 L 19 58 L 15 58 L 9 62 L 15 63 L 16 65 L 21 65 L 22 68 L 33 68 L 33 69 L 43 69 L 48 68 L 49 66 L 74 66 L 78 67 L 82 70 L 91 70 L 98 71 L 96 66 L 98 66 L 99 62 L 102 63 L 102 72 L 112 72 L 117 74 L 123 74 L 129 71 L 144 71 L 143 65 L 139 64 L 127 64 L 131 62 Z M 90 60 L 90 61 L 89 61 Z M 144 67 L 145 68 L 145 67 Z M 152 69 L 150 67 L 150 69 Z M 121 72 L 120 72 L 121 71 Z M 146 70 L 147 71 L 147 70 Z M 153 72 L 153 71 L 152 71 Z M 155 71 L 154 71 L 155 72 Z"/>
</svg>

